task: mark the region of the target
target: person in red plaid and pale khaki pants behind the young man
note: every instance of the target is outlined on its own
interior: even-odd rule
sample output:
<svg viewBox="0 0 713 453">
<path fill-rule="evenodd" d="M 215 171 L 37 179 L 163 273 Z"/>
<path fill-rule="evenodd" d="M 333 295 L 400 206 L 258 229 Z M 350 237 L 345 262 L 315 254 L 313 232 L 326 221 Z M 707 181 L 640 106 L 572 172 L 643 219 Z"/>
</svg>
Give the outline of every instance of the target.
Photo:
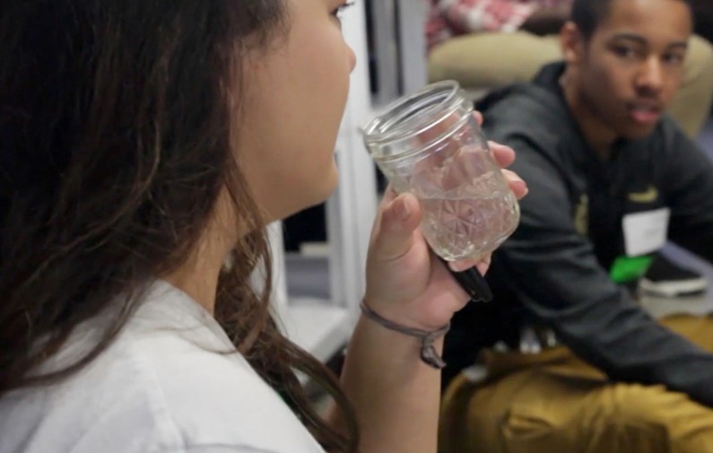
<svg viewBox="0 0 713 453">
<path fill-rule="evenodd" d="M 474 97 L 532 79 L 545 63 L 561 57 L 557 34 L 572 0 L 424 0 L 430 82 L 452 79 Z M 700 22 L 709 0 L 694 0 Z M 700 4 L 700 5 L 699 5 Z M 710 30 L 707 30 L 710 32 Z M 713 103 L 713 47 L 691 38 L 681 88 L 669 113 L 691 137 L 709 118 Z"/>
</svg>

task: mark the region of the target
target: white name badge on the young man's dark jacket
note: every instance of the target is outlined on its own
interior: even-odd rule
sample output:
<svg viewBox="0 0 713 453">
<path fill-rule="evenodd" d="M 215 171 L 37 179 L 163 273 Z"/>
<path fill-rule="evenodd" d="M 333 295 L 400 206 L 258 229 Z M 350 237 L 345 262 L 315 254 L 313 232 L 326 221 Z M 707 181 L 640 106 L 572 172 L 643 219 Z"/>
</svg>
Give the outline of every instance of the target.
<svg viewBox="0 0 713 453">
<path fill-rule="evenodd" d="M 667 207 L 624 215 L 624 247 L 628 257 L 639 257 L 664 247 L 671 210 Z"/>
</svg>

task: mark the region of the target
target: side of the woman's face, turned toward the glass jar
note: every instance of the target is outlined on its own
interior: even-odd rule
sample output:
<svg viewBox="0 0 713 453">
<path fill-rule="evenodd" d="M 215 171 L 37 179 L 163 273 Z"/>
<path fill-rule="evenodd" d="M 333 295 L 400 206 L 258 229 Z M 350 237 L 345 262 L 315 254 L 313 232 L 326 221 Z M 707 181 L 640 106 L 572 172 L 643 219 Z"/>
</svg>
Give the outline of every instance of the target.
<svg viewBox="0 0 713 453">
<path fill-rule="evenodd" d="M 326 199 L 356 59 L 343 39 L 344 0 L 286 0 L 286 36 L 249 57 L 239 164 L 269 220 Z"/>
</svg>

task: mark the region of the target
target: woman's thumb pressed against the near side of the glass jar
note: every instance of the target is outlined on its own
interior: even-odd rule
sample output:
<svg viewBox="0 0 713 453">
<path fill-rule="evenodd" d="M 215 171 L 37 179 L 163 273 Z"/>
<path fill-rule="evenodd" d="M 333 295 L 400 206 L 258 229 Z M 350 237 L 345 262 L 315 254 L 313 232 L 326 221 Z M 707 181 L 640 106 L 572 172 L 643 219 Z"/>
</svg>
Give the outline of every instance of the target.
<svg viewBox="0 0 713 453">
<path fill-rule="evenodd" d="M 379 261 L 403 257 L 413 247 L 413 231 L 418 228 L 421 218 L 421 205 L 415 196 L 396 196 L 378 217 L 372 243 L 375 257 Z"/>
</svg>

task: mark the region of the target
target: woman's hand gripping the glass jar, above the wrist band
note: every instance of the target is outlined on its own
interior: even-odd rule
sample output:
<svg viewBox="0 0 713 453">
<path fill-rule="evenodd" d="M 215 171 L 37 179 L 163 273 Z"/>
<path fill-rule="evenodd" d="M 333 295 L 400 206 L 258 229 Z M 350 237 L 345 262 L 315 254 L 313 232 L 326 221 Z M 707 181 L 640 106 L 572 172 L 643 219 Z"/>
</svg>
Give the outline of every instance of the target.
<svg viewBox="0 0 713 453">
<path fill-rule="evenodd" d="M 480 119 L 480 118 L 479 118 Z M 490 143 L 501 168 L 515 160 L 507 146 Z M 501 170 L 517 198 L 526 195 L 526 183 L 509 170 Z M 468 295 L 431 252 L 418 229 L 422 209 L 411 194 L 396 196 L 389 187 L 371 233 L 364 301 L 378 314 L 406 327 L 435 330 L 469 301 Z M 490 256 L 480 262 L 450 263 L 454 270 L 477 266 L 484 274 Z"/>
</svg>

